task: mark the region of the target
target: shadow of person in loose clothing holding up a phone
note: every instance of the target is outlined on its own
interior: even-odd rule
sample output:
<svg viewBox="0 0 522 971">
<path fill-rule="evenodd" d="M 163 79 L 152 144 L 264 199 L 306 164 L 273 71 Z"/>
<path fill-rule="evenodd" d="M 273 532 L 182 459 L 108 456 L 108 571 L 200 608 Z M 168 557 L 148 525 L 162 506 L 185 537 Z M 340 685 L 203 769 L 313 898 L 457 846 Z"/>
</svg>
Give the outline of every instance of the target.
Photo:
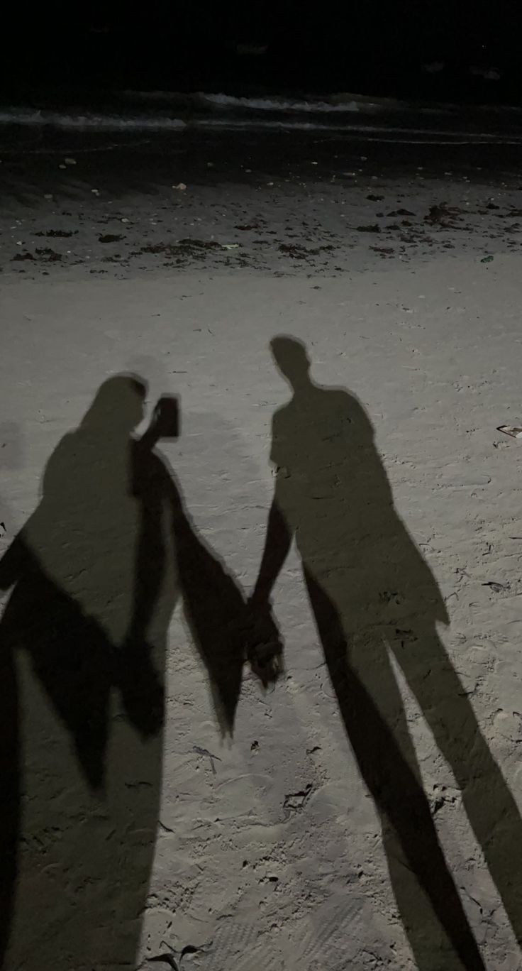
<svg viewBox="0 0 522 971">
<path fill-rule="evenodd" d="M 179 433 L 176 399 L 162 399 L 136 434 L 146 395 L 132 374 L 101 385 L 0 560 L 0 926 L 5 953 L 13 924 L 8 960 L 28 971 L 136 965 L 179 598 L 221 730 L 233 730 L 244 596 L 195 532 L 155 448 Z"/>
</svg>

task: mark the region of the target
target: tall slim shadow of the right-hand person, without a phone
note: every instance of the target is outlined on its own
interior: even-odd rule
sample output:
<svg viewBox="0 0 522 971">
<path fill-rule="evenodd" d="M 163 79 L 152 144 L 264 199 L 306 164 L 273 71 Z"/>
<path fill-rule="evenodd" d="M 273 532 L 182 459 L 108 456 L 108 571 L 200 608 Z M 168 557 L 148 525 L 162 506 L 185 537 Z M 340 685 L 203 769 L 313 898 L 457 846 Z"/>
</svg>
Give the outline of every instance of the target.
<svg viewBox="0 0 522 971">
<path fill-rule="evenodd" d="M 273 421 L 277 485 L 252 610 L 270 597 L 295 538 L 346 734 L 381 820 L 390 880 L 417 967 L 440 967 L 441 926 L 462 965 L 483 968 L 422 788 L 390 653 L 462 790 L 520 941 L 516 804 L 440 641 L 436 623 L 448 622 L 445 605 L 395 510 L 370 419 L 354 395 L 313 383 L 300 341 L 280 336 L 271 347 L 292 397 Z"/>
</svg>

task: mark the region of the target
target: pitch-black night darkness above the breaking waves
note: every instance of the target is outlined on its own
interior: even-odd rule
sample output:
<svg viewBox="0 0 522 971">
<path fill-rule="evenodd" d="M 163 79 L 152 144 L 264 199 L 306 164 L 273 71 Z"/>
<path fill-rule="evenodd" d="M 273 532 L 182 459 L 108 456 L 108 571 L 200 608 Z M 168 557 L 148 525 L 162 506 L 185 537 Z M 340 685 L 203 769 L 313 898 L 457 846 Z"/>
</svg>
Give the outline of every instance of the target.
<svg viewBox="0 0 522 971">
<path fill-rule="evenodd" d="M 42 4 L 29 15 L 18 5 L 5 34 L 2 86 L 4 95 L 119 86 L 411 94 L 419 84 L 440 84 L 421 69 L 440 60 L 454 95 L 466 94 L 469 67 L 478 65 L 498 68 L 503 94 L 509 89 L 516 100 L 521 6 L 514 0 L 322 0 L 316 6 L 150 0 L 132 7 Z M 238 44 L 267 51 L 239 56 Z"/>
</svg>

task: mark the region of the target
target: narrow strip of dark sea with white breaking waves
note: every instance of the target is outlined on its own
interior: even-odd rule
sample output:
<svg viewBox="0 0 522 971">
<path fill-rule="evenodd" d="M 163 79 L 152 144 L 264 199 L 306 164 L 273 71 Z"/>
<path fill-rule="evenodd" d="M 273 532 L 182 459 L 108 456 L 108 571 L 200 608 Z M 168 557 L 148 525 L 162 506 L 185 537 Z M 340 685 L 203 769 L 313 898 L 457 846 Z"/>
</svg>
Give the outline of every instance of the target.
<svg viewBox="0 0 522 971">
<path fill-rule="evenodd" d="M 28 131 L 147 132 L 182 135 L 194 129 L 332 132 L 369 141 L 439 145 L 522 143 L 522 109 L 405 101 L 339 92 L 328 96 L 197 91 L 114 91 L 95 106 L 0 105 L 0 151 Z M 34 148 L 38 151 L 38 147 Z"/>
</svg>

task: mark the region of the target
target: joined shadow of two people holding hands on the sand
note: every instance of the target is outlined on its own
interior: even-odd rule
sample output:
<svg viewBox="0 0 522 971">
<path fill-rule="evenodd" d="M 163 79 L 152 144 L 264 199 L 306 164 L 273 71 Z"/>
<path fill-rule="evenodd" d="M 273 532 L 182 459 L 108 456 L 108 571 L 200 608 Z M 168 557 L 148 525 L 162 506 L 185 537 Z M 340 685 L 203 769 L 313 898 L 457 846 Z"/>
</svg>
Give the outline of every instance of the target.
<svg viewBox="0 0 522 971">
<path fill-rule="evenodd" d="M 59 444 L 39 507 L 0 562 L 0 587 L 12 588 L 0 624 L 4 685 L 10 687 L 2 726 L 9 781 L 2 832 L 11 860 L 3 878 L 4 940 L 19 868 L 16 654 L 29 657 L 36 683 L 73 739 L 84 778 L 106 803 L 103 819 L 99 808 L 75 805 L 75 820 L 67 823 L 70 854 L 58 864 L 60 880 L 54 875 L 48 887 L 49 899 L 54 893 L 63 901 L 54 904 L 62 923 L 70 922 L 63 966 L 83 966 L 79 942 L 87 941 L 89 966 L 107 965 L 108 942 L 119 963 L 133 966 L 159 810 L 163 672 L 173 610 L 182 596 L 218 720 L 231 731 L 245 653 L 265 682 L 277 676 L 280 644 L 268 603 L 295 537 L 344 727 L 381 819 L 390 879 L 417 966 L 439 968 L 442 927 L 461 964 L 483 968 L 422 788 L 390 651 L 462 788 L 520 940 L 512 848 L 520 845 L 522 827 L 514 800 L 440 642 L 436 621 L 447 622 L 440 590 L 394 509 L 370 420 L 353 395 L 311 381 L 300 342 L 277 338 L 272 350 L 292 396 L 274 419 L 276 495 L 246 608 L 240 587 L 196 533 L 173 472 L 154 448 L 162 434 L 158 416 L 142 438 L 134 433 L 146 386 L 133 376 L 102 385 L 79 429 Z M 53 814 L 56 775 L 62 786 L 74 775 L 71 765 L 57 766 L 49 757 L 47 724 L 37 758 L 40 824 Z M 94 833 L 88 827 L 93 814 Z M 22 855 L 25 868 L 42 869 L 31 846 L 24 844 Z M 114 873 L 121 876 L 108 888 L 107 875 Z M 77 926 L 79 912 L 89 915 L 86 928 Z"/>
</svg>

